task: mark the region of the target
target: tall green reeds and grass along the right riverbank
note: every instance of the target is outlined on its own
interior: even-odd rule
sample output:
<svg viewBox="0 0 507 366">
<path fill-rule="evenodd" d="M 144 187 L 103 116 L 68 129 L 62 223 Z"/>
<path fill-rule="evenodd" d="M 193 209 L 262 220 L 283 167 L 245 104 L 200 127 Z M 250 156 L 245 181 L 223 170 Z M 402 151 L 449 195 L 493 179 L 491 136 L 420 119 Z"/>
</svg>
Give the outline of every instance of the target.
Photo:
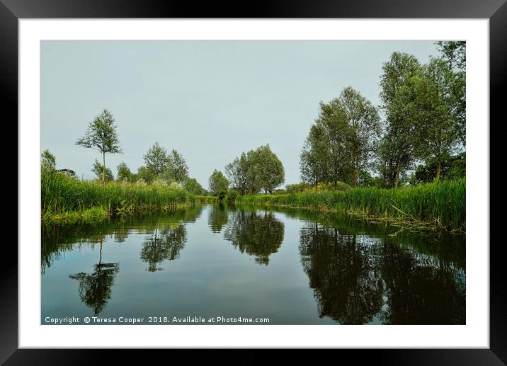
<svg viewBox="0 0 507 366">
<path fill-rule="evenodd" d="M 287 195 L 245 195 L 236 202 L 351 214 L 397 221 L 414 229 L 465 232 L 465 178 L 396 189 L 353 188 Z"/>
</svg>

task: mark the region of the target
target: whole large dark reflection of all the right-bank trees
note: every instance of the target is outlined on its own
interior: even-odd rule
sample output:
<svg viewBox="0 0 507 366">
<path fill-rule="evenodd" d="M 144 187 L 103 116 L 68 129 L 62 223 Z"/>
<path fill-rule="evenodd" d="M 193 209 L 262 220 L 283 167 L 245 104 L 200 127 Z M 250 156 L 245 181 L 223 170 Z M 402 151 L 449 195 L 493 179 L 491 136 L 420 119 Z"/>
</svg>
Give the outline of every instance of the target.
<svg viewBox="0 0 507 366">
<path fill-rule="evenodd" d="M 464 324 L 465 270 L 388 239 L 307 223 L 300 255 L 319 316 L 341 324 Z"/>
</svg>

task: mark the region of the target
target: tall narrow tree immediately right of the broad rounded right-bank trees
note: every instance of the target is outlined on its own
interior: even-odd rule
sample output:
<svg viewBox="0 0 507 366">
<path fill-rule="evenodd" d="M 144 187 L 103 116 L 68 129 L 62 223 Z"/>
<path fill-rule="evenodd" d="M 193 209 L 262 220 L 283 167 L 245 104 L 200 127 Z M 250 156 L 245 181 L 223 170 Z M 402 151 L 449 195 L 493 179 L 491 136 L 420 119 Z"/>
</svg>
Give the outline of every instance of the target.
<svg viewBox="0 0 507 366">
<path fill-rule="evenodd" d="M 386 118 L 377 153 L 384 185 L 387 187 L 397 187 L 400 174 L 405 173 L 414 161 L 416 126 L 406 115 L 400 91 L 420 68 L 416 57 L 401 52 L 394 52 L 382 67 L 380 98 Z"/>
</svg>

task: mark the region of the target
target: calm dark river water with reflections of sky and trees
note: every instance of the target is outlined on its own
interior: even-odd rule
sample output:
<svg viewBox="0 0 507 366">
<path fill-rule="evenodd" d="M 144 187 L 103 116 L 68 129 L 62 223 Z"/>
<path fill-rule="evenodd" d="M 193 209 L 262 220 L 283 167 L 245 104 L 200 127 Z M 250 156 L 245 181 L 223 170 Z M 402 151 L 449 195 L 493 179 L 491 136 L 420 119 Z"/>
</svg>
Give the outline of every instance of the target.
<svg viewBox="0 0 507 366">
<path fill-rule="evenodd" d="M 399 229 L 239 205 L 43 224 L 42 324 L 465 324 L 465 237 Z"/>
</svg>

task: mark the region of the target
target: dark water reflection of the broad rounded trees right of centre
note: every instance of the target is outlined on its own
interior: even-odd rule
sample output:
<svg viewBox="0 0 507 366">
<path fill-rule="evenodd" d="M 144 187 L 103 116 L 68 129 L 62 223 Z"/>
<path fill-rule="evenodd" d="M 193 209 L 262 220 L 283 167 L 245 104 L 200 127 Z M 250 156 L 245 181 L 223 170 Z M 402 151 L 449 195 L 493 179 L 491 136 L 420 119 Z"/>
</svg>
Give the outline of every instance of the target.
<svg viewBox="0 0 507 366">
<path fill-rule="evenodd" d="M 319 317 L 341 324 L 365 324 L 382 308 L 384 285 L 370 245 L 356 235 L 308 224 L 301 231 L 300 253 L 309 285 L 314 289 Z"/>
</svg>

